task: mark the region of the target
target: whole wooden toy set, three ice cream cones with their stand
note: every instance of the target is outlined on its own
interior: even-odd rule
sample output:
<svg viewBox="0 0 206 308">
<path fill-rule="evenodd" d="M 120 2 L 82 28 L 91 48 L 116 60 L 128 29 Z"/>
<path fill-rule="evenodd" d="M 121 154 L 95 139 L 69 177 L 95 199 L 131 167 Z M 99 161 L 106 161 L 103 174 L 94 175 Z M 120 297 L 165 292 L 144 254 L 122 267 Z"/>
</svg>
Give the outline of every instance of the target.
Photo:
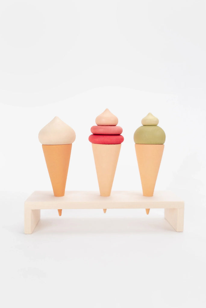
<svg viewBox="0 0 206 308">
<path fill-rule="evenodd" d="M 76 135 L 71 127 L 55 117 L 39 132 L 54 196 L 50 191 L 36 191 L 24 204 L 24 232 L 31 234 L 39 219 L 41 209 L 164 209 L 164 217 L 177 231 L 183 231 L 184 201 L 171 192 L 155 192 L 155 183 L 161 163 L 165 133 L 158 127 L 159 120 L 149 113 L 142 119 L 142 126 L 134 133 L 135 150 L 142 182 L 142 192 L 113 191 L 113 179 L 124 138 L 118 119 L 108 109 L 97 116 L 91 128 L 94 161 L 99 192 L 67 191 L 72 143 Z M 110 195 L 111 194 L 111 195 Z M 146 197 L 144 197 L 146 196 Z M 62 198 L 56 198 L 62 197 Z M 106 197 L 106 198 L 104 198 Z"/>
</svg>

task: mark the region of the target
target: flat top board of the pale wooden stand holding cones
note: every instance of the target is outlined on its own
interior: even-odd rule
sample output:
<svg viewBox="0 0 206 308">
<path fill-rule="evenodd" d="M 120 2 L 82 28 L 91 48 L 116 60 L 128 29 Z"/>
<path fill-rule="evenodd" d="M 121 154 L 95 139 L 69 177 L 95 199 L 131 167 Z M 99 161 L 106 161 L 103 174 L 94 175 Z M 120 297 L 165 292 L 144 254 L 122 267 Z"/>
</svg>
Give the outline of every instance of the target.
<svg viewBox="0 0 206 308">
<path fill-rule="evenodd" d="M 35 191 L 25 201 L 30 209 L 130 209 L 183 208 L 184 201 L 170 191 L 155 191 L 144 197 L 138 191 L 112 191 L 101 197 L 98 191 L 66 191 L 64 197 L 54 197 L 52 191 Z"/>
</svg>

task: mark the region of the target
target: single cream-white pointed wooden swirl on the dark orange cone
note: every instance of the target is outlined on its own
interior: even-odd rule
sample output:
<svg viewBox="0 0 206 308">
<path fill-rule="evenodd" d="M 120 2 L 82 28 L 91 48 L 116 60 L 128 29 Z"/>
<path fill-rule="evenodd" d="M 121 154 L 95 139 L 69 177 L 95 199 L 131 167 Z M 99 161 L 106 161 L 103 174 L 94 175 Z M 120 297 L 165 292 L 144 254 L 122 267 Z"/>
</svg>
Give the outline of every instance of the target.
<svg viewBox="0 0 206 308">
<path fill-rule="evenodd" d="M 75 131 L 58 116 L 44 126 L 39 132 L 41 144 L 71 144 L 76 138 Z"/>
</svg>

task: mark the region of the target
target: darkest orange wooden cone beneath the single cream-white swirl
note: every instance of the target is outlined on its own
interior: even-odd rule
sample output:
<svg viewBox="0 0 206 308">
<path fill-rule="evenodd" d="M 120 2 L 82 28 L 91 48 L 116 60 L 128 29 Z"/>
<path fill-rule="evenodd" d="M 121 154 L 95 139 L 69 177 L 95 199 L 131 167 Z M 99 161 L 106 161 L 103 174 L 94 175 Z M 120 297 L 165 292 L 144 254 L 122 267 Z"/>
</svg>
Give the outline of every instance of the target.
<svg viewBox="0 0 206 308">
<path fill-rule="evenodd" d="M 42 144 L 44 157 L 55 197 L 65 193 L 72 144 Z M 58 210 L 61 216 L 61 209 Z"/>
</svg>

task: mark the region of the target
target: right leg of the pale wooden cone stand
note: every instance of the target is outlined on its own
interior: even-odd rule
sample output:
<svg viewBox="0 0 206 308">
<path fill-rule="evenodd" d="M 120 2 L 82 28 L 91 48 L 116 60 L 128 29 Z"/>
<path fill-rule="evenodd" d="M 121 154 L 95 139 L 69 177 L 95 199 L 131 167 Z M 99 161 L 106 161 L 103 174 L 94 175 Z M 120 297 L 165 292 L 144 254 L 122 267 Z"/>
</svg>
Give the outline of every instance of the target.
<svg viewBox="0 0 206 308">
<path fill-rule="evenodd" d="M 177 231 L 183 232 L 184 226 L 184 208 L 182 209 L 164 209 L 164 218 Z"/>
</svg>

